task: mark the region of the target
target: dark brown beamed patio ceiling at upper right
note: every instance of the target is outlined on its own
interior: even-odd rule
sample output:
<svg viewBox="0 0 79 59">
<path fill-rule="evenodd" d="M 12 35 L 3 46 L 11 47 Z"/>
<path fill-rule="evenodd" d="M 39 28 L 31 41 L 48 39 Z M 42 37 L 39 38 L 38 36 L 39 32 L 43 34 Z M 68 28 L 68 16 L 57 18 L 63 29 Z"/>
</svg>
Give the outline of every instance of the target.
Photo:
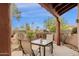
<svg viewBox="0 0 79 59">
<path fill-rule="evenodd" d="M 51 12 L 51 9 L 55 9 L 59 15 L 62 15 L 77 6 L 77 3 L 40 3 L 40 5 L 49 12 Z M 51 6 L 51 8 L 49 6 Z"/>
</svg>

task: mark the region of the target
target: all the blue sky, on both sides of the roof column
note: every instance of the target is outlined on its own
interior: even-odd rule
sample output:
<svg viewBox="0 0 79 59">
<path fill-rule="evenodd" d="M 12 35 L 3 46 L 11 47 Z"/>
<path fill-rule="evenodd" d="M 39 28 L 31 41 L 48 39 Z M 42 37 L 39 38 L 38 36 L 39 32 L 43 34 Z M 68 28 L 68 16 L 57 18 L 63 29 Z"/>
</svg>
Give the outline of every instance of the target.
<svg viewBox="0 0 79 59">
<path fill-rule="evenodd" d="M 15 17 L 12 19 L 12 27 L 20 27 L 25 25 L 26 23 L 32 24 L 33 28 L 39 26 L 40 28 L 44 28 L 43 22 L 48 18 L 54 18 L 52 14 L 50 14 L 47 10 L 42 8 L 39 4 L 35 3 L 18 3 L 16 4 L 18 9 L 21 11 L 21 18 L 19 21 Z M 69 25 L 76 25 L 76 15 L 77 15 L 77 8 L 73 8 L 70 11 L 66 12 L 61 16 L 67 24 Z"/>
</svg>

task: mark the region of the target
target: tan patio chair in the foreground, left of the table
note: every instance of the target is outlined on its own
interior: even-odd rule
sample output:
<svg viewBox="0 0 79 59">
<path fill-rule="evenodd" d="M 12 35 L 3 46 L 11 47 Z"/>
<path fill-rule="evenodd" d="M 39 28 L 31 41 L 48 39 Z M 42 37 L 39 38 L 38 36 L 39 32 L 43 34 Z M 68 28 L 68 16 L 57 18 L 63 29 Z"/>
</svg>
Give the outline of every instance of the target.
<svg viewBox="0 0 79 59">
<path fill-rule="evenodd" d="M 21 50 L 23 52 L 23 55 L 35 56 L 35 53 L 34 53 L 32 46 L 31 46 L 31 42 L 29 42 L 26 34 L 19 32 L 18 39 L 20 41 L 20 47 L 21 47 Z"/>
</svg>

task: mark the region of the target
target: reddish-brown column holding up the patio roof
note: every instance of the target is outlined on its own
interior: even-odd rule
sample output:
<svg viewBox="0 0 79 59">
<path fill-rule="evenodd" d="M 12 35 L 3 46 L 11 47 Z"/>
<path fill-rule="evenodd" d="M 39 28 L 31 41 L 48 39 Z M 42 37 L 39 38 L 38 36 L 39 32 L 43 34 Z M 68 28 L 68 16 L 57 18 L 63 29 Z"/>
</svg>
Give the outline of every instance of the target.
<svg viewBox="0 0 79 59">
<path fill-rule="evenodd" d="M 57 45 L 60 45 L 60 21 L 59 18 L 56 18 L 56 42 Z"/>
</svg>

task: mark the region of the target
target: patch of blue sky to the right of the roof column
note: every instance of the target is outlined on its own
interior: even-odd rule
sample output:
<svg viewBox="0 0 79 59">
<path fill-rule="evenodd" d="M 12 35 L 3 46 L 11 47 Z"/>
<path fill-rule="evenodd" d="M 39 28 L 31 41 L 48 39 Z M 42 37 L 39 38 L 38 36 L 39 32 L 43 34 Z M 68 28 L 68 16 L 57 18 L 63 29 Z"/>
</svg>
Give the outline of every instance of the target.
<svg viewBox="0 0 79 59">
<path fill-rule="evenodd" d="M 76 19 L 77 19 L 77 7 L 72 8 L 68 12 L 61 15 L 61 18 L 71 26 L 76 26 Z"/>
</svg>

